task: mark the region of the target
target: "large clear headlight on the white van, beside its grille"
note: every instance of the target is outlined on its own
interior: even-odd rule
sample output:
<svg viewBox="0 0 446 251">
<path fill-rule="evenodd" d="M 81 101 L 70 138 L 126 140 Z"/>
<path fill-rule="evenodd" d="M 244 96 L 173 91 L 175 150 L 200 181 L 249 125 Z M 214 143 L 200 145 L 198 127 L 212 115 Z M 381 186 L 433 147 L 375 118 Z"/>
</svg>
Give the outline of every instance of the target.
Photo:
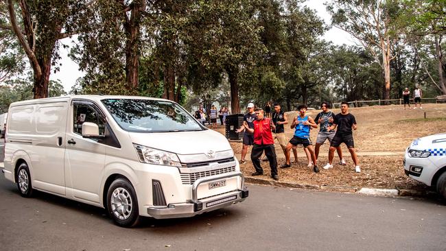
<svg viewBox="0 0 446 251">
<path fill-rule="evenodd" d="M 180 159 L 172 152 L 165 152 L 135 143 L 133 143 L 133 146 L 137 150 L 139 161 L 142 163 L 181 167 Z"/>
</svg>

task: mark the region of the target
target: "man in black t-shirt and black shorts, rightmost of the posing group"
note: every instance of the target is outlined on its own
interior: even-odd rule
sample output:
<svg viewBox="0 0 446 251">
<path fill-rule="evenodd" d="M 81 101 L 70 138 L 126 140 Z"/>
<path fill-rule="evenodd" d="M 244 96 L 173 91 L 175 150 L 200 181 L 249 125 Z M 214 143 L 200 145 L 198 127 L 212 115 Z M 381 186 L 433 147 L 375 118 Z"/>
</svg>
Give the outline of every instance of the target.
<svg viewBox="0 0 446 251">
<path fill-rule="evenodd" d="M 355 116 L 349 113 L 349 103 L 347 103 L 346 101 L 343 101 L 341 103 L 341 113 L 338 113 L 334 117 L 333 125 L 329 126 L 327 130 L 329 131 L 333 130 L 334 128 L 336 128 L 336 126 L 338 127 L 338 130 L 336 131 L 333 140 L 331 140 L 329 156 L 328 156 L 329 163 L 325 165 L 325 167 L 323 168 L 329 169 L 333 167 L 331 163 L 333 163 L 334 151 L 336 150 L 336 147 L 340 146 L 341 143 L 345 143 L 345 145 L 347 145 L 347 148 L 349 148 L 349 152 L 351 154 L 353 163 L 355 163 L 355 172 L 360 173 L 361 169 L 355 152 L 355 143 L 353 142 L 353 131 L 352 131 L 352 129 L 353 130 L 357 129 L 356 119 Z"/>
</svg>

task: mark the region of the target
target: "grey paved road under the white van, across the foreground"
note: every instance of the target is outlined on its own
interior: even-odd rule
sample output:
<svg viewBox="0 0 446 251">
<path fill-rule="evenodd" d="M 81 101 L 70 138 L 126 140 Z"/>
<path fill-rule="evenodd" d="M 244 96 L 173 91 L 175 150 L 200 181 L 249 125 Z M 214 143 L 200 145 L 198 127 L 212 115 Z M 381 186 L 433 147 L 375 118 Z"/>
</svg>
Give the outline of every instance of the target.
<svg viewBox="0 0 446 251">
<path fill-rule="evenodd" d="M 446 206 L 250 185 L 245 202 L 189 219 L 119 228 L 104 209 L 0 175 L 1 250 L 445 250 Z"/>
</svg>

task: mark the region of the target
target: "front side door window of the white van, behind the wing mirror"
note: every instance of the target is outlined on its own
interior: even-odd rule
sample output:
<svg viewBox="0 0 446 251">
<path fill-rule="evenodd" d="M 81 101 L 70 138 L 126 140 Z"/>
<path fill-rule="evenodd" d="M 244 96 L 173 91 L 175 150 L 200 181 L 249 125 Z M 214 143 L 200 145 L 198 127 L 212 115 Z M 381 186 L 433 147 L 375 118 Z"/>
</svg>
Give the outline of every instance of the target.
<svg viewBox="0 0 446 251">
<path fill-rule="evenodd" d="M 105 121 L 93 106 L 73 104 L 73 132 L 82 134 L 82 123 L 91 122 L 99 126 L 99 135 L 105 134 Z"/>
</svg>

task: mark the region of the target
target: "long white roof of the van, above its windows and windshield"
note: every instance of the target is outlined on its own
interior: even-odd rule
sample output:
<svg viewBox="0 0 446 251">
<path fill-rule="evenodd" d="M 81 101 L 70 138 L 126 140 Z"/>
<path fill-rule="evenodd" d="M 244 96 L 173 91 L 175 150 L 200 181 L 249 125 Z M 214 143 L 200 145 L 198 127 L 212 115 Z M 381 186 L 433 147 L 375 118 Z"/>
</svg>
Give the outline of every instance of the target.
<svg viewBox="0 0 446 251">
<path fill-rule="evenodd" d="M 124 95 L 67 95 L 62 97 L 46 97 L 43 99 L 29 99 L 24 101 L 17 101 L 11 106 L 23 106 L 25 104 L 41 104 L 47 102 L 69 101 L 71 99 L 90 99 L 92 101 L 100 102 L 102 99 L 150 99 L 159 101 L 171 101 L 168 99 L 160 99 L 156 97 L 142 97 L 142 96 L 124 96 Z"/>
</svg>

